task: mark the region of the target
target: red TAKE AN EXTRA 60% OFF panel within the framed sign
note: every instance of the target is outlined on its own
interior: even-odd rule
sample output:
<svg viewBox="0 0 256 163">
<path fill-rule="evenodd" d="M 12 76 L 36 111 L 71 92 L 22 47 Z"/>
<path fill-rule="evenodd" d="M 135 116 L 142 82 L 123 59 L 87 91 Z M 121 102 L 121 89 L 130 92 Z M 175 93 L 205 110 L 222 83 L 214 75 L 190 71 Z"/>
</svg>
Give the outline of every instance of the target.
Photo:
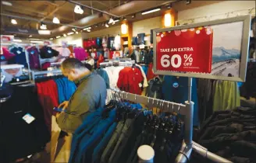
<svg viewBox="0 0 256 163">
<path fill-rule="evenodd" d="M 211 27 L 157 33 L 156 70 L 211 73 L 212 33 Z"/>
</svg>

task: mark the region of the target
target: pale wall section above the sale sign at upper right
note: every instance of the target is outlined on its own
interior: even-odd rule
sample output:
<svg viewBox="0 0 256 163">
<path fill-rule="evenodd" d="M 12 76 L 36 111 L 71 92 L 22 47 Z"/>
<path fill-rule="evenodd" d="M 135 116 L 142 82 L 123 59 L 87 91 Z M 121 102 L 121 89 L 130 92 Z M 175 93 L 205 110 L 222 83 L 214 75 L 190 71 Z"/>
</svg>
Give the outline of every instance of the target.
<svg viewBox="0 0 256 163">
<path fill-rule="evenodd" d="M 221 19 L 221 18 L 225 18 L 223 16 L 225 16 L 225 13 L 227 12 L 239 11 L 241 14 L 244 14 L 245 12 L 248 12 L 248 9 L 252 9 L 252 8 L 254 8 L 254 13 L 255 13 L 255 1 L 224 1 L 219 3 L 214 3 L 211 5 L 204 5 L 194 9 L 187 9 L 187 10 L 180 11 L 178 12 L 178 21 L 186 20 L 186 19 L 194 19 L 202 16 L 212 16 L 214 17 L 212 19 Z M 232 14 L 230 14 L 230 16 L 231 15 Z M 206 21 L 206 20 L 201 19 L 201 21 Z"/>
</svg>

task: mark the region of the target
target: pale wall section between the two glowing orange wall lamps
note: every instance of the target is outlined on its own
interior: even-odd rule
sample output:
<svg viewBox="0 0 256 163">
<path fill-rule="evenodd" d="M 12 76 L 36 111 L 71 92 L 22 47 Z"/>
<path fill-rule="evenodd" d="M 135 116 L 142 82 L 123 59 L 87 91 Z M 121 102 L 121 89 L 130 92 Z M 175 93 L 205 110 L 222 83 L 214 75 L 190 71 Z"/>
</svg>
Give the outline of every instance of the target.
<svg viewBox="0 0 256 163">
<path fill-rule="evenodd" d="M 133 36 L 137 36 L 138 33 L 150 34 L 151 29 L 161 28 L 161 16 L 144 19 L 138 22 L 133 22 Z"/>
</svg>

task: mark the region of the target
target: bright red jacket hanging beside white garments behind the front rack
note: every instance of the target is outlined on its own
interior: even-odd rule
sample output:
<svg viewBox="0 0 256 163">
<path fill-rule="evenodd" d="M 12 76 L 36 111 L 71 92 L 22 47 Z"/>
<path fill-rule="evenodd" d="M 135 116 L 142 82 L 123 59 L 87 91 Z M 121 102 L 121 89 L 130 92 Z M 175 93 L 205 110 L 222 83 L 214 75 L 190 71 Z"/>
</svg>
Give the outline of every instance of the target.
<svg viewBox="0 0 256 163">
<path fill-rule="evenodd" d="M 123 68 L 119 72 L 117 86 L 125 92 L 141 95 L 141 82 L 144 78 L 139 68 Z"/>
</svg>

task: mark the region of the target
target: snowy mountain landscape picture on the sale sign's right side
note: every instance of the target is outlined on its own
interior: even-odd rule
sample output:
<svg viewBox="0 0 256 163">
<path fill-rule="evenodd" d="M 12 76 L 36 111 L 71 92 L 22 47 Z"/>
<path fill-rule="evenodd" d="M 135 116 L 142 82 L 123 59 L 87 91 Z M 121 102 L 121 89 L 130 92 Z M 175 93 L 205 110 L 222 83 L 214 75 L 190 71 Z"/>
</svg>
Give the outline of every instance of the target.
<svg viewBox="0 0 256 163">
<path fill-rule="evenodd" d="M 239 77 L 243 22 L 211 26 L 212 72 L 211 75 Z"/>
</svg>

